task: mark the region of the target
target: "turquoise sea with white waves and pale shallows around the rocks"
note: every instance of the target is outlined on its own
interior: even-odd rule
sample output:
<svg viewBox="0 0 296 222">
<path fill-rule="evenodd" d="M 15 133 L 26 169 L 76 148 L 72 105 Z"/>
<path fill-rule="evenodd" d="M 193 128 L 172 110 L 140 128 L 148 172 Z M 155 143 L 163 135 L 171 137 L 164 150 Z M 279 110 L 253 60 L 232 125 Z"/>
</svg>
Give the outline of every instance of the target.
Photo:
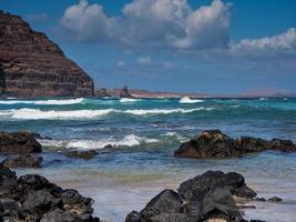
<svg viewBox="0 0 296 222">
<path fill-rule="evenodd" d="M 29 130 L 52 140 L 44 167 L 35 172 L 79 189 L 95 200 L 95 213 L 120 222 L 164 188 L 177 185 L 206 170 L 237 171 L 259 196 L 278 195 L 283 204 L 256 204 L 245 216 L 293 221 L 296 216 L 296 154 L 264 152 L 241 159 L 174 159 L 180 143 L 205 129 L 221 129 L 232 137 L 283 138 L 296 142 L 294 99 L 182 100 L 0 100 L 0 130 Z M 64 149 L 115 151 L 90 161 L 65 158 Z M 59 161 L 57 161 L 59 160 Z"/>
</svg>

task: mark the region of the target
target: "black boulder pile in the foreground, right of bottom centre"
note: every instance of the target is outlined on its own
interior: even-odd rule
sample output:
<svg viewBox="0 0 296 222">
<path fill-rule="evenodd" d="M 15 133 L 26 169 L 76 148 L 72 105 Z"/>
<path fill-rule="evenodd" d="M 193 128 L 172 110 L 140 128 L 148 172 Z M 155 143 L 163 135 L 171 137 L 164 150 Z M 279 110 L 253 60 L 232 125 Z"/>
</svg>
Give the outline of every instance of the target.
<svg viewBox="0 0 296 222">
<path fill-rule="evenodd" d="M 233 195 L 254 198 L 243 175 L 207 171 L 183 182 L 178 193 L 164 190 L 141 211 L 127 214 L 125 222 L 202 222 L 223 219 L 245 222 Z"/>
</svg>

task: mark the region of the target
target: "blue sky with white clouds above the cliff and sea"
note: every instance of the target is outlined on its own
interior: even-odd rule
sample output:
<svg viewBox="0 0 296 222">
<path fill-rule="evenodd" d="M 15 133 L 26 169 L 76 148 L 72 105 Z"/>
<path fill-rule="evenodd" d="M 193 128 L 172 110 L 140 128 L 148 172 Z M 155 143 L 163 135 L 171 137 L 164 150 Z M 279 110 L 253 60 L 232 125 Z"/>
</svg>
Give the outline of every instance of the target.
<svg viewBox="0 0 296 222">
<path fill-rule="evenodd" d="M 296 92 L 295 0 L 0 0 L 95 88 Z"/>
</svg>

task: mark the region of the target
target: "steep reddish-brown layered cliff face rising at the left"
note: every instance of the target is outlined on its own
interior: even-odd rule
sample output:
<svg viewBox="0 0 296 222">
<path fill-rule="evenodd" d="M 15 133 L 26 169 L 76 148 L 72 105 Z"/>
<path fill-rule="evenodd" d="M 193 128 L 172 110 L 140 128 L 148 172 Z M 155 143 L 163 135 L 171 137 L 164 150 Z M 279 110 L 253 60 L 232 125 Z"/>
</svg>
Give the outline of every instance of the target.
<svg viewBox="0 0 296 222">
<path fill-rule="evenodd" d="M 44 33 L 0 11 L 0 93 L 13 97 L 91 97 L 92 79 Z"/>
</svg>

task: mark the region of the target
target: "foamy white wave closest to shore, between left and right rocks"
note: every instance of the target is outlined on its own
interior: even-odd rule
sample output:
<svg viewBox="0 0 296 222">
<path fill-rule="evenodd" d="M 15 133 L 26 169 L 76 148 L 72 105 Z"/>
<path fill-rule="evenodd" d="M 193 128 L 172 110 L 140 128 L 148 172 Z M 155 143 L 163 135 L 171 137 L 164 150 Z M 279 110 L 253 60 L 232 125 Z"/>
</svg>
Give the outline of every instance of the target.
<svg viewBox="0 0 296 222">
<path fill-rule="evenodd" d="M 76 141 L 55 141 L 55 140 L 39 140 L 43 147 L 57 147 L 59 149 L 79 149 L 79 150 L 100 150 L 106 145 L 114 148 L 120 147 L 136 147 L 147 143 L 160 142 L 156 139 L 137 137 L 135 134 L 125 135 L 122 139 L 103 139 L 103 140 L 76 140 Z"/>
</svg>

